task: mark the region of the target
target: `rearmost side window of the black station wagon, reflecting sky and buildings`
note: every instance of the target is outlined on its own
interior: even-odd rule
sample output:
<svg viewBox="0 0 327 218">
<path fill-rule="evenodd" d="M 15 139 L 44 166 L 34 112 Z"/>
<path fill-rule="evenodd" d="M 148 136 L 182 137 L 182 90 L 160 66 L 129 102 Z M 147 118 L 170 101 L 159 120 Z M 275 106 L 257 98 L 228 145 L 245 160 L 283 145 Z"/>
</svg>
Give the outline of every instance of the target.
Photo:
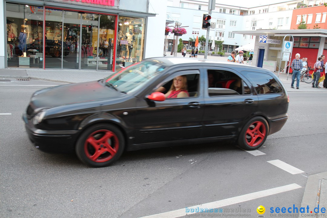
<svg viewBox="0 0 327 218">
<path fill-rule="evenodd" d="M 270 75 L 249 73 L 248 78 L 258 94 L 283 92 L 280 84 Z"/>
</svg>

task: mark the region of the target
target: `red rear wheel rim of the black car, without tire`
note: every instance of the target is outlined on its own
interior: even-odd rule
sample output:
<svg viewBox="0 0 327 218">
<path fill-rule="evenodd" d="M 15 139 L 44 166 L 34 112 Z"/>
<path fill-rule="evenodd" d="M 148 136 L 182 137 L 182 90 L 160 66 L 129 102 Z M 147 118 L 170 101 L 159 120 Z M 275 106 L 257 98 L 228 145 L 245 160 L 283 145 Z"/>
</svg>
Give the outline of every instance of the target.
<svg viewBox="0 0 327 218">
<path fill-rule="evenodd" d="M 249 146 L 255 147 L 264 141 L 266 132 L 265 124 L 261 121 L 255 121 L 246 130 L 245 141 Z"/>
</svg>

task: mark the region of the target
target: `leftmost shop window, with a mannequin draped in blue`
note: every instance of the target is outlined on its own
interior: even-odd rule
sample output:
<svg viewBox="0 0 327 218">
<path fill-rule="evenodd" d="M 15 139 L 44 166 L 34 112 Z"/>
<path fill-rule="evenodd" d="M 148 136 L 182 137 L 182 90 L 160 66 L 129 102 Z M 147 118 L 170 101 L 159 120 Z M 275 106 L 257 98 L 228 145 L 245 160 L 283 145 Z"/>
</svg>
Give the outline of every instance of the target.
<svg viewBox="0 0 327 218">
<path fill-rule="evenodd" d="M 7 66 L 42 68 L 43 7 L 6 3 Z"/>
</svg>

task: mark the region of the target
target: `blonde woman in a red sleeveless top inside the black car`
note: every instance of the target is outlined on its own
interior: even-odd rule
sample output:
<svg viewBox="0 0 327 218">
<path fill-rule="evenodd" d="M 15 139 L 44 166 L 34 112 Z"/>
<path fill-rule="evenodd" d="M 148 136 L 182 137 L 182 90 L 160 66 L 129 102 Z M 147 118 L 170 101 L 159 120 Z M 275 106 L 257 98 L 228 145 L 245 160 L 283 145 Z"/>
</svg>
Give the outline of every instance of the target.
<svg viewBox="0 0 327 218">
<path fill-rule="evenodd" d="M 169 91 L 165 94 L 166 98 L 183 98 L 189 97 L 187 92 L 187 78 L 186 75 L 176 76 Z"/>
</svg>

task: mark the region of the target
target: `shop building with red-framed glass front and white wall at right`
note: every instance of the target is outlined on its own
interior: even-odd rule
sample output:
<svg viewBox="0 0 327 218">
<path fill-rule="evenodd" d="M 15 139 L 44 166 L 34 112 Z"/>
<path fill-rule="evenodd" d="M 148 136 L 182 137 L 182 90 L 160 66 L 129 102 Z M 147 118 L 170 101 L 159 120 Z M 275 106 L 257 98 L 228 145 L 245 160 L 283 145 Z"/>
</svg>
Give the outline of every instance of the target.
<svg viewBox="0 0 327 218">
<path fill-rule="evenodd" d="M 157 44 L 147 35 L 162 30 L 163 40 L 165 7 L 154 0 L 2 1 L 0 68 L 115 71 L 159 56 L 147 49 Z"/>
</svg>

